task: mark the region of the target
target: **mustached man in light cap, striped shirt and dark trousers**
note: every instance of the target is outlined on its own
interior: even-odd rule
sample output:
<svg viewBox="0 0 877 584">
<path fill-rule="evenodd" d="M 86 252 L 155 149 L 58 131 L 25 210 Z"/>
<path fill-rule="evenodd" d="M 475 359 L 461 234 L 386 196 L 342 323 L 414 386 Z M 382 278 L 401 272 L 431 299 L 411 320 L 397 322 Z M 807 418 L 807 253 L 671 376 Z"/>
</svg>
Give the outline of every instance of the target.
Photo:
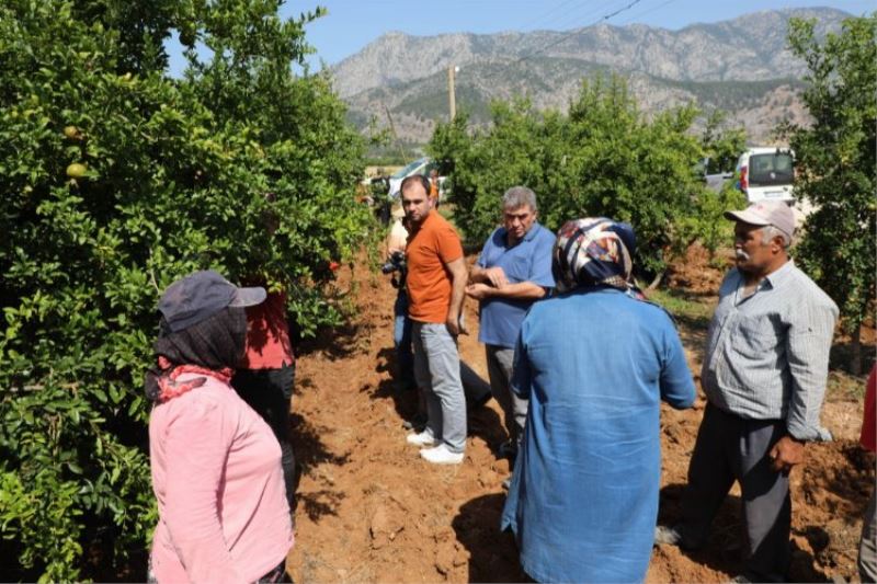
<svg viewBox="0 0 877 584">
<path fill-rule="evenodd" d="M 709 324 L 701 385 L 704 420 L 688 467 L 682 524 L 657 543 L 699 548 L 734 480 L 742 491 L 740 582 L 787 576 L 788 474 L 820 438 L 838 307 L 788 256 L 795 218 L 785 203 L 728 211 L 737 267 L 725 277 Z"/>
</svg>

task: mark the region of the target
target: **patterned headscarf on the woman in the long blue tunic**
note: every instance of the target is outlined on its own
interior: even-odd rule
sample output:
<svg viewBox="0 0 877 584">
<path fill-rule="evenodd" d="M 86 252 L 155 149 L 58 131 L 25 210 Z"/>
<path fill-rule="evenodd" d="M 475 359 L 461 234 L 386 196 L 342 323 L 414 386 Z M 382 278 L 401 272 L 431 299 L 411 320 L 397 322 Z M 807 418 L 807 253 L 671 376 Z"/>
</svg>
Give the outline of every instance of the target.
<svg viewBox="0 0 877 584">
<path fill-rule="evenodd" d="M 551 270 L 561 293 L 605 285 L 635 290 L 630 280 L 634 228 L 605 217 L 567 221 L 557 232 Z"/>
</svg>

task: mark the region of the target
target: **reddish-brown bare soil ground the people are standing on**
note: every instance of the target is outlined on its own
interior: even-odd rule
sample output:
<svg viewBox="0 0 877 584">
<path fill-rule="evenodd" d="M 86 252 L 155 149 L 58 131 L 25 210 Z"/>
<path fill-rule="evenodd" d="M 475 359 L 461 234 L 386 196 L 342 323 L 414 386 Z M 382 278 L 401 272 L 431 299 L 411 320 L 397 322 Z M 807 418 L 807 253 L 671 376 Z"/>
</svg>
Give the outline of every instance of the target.
<svg viewBox="0 0 877 584">
<path fill-rule="evenodd" d="M 718 272 L 703 263 L 686 270 L 692 277 L 677 273 L 674 285 L 694 294 L 707 290 L 704 295 L 717 289 Z M 497 403 L 491 400 L 470 416 L 463 465 L 422 461 L 406 444 L 402 427 L 414 396 L 396 394 L 390 377 L 395 290 L 365 267 L 342 274 L 339 286 L 356 298 L 355 322 L 303 345 L 298 360 L 294 439 L 304 472 L 297 543 L 289 558 L 295 581 L 521 581 L 514 541 L 498 529 L 509 465 L 492 451 L 504 436 Z M 474 302 L 467 302 L 467 322 L 477 331 Z M 692 370 L 698 370 L 703 330 L 680 324 Z M 460 354 L 487 378 L 476 331 L 462 337 Z M 662 522 L 679 516 L 703 405 L 702 398 L 693 410 L 662 411 Z M 827 404 L 823 423 L 840 439 L 809 448 L 808 465 L 793 474 L 794 581 L 854 577 L 859 517 L 874 481 L 873 458 L 855 445 L 859 412 L 855 401 Z M 656 549 L 647 582 L 732 576 L 738 494 L 729 497 L 704 551 L 686 556 L 675 548 Z"/>
</svg>

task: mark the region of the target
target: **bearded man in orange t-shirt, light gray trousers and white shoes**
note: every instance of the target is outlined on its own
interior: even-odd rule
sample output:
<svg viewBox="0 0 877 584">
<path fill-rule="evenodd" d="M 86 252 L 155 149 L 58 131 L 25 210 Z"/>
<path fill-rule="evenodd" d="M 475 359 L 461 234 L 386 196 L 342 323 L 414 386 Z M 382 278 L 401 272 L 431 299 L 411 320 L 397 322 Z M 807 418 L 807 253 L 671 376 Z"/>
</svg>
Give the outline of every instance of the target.
<svg viewBox="0 0 877 584">
<path fill-rule="evenodd" d="M 406 245 L 408 316 L 414 342 L 414 377 L 426 398 L 426 427 L 409 444 L 436 465 L 463 462 L 466 398 L 459 375 L 457 335 L 468 272 L 454 228 L 433 208 L 430 181 L 422 174 L 402 181 L 402 208 L 410 226 Z M 432 446 L 432 448 L 428 448 Z"/>
</svg>

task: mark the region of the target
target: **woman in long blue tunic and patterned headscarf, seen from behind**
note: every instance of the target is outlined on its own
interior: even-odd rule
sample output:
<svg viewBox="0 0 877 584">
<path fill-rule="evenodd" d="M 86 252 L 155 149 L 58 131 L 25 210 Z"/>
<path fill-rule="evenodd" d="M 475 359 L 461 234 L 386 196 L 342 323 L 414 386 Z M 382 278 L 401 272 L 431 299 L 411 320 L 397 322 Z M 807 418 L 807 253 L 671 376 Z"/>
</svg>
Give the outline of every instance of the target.
<svg viewBox="0 0 877 584">
<path fill-rule="evenodd" d="M 658 517 L 660 400 L 694 381 L 672 319 L 630 283 L 633 228 L 605 218 L 558 232 L 558 296 L 536 302 L 512 388 L 529 398 L 502 529 L 538 582 L 639 582 Z"/>
</svg>

